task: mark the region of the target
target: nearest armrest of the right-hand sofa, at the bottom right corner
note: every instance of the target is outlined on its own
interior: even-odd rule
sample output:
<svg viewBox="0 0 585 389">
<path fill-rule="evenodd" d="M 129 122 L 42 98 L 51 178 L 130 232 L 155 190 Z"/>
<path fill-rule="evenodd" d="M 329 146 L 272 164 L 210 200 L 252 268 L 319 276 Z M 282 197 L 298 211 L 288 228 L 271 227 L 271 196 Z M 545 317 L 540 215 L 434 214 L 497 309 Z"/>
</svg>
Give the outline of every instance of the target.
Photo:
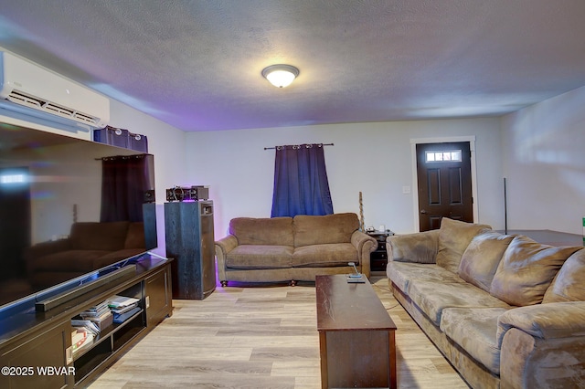
<svg viewBox="0 0 585 389">
<path fill-rule="evenodd" d="M 498 321 L 500 387 L 581 387 L 585 301 L 508 310 Z"/>
</svg>

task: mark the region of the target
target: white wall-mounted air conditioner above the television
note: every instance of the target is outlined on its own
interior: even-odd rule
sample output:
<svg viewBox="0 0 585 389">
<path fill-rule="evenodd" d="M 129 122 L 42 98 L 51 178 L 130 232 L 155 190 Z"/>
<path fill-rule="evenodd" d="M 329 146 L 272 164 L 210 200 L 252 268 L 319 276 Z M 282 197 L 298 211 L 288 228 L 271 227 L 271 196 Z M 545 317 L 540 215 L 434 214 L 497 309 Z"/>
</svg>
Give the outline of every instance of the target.
<svg viewBox="0 0 585 389">
<path fill-rule="evenodd" d="M 0 51 L 0 114 L 58 123 L 71 131 L 86 131 L 90 137 L 91 130 L 108 125 L 110 100 L 27 59 Z"/>
</svg>

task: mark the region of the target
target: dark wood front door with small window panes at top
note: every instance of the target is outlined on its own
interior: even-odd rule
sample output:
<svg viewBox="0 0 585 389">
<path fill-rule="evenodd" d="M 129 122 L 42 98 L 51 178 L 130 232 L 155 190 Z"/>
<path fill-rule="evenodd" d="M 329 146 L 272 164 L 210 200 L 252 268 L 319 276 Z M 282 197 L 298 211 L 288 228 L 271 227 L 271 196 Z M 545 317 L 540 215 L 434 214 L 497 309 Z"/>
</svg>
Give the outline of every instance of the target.
<svg viewBox="0 0 585 389">
<path fill-rule="evenodd" d="M 443 216 L 473 222 L 469 142 L 417 144 L 420 231 L 437 229 Z"/>
</svg>

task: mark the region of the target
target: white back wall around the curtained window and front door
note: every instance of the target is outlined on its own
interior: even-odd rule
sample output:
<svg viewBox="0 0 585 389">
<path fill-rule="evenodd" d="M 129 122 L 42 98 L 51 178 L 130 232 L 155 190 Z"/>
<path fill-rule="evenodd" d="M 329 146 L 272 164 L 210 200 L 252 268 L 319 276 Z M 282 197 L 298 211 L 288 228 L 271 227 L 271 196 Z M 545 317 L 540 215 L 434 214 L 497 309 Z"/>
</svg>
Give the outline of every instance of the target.
<svg viewBox="0 0 585 389">
<path fill-rule="evenodd" d="M 359 214 L 363 194 L 367 226 L 414 232 L 410 140 L 475 136 L 478 222 L 504 226 L 504 197 L 498 119 L 396 121 L 186 134 L 185 181 L 206 184 L 215 204 L 216 238 L 237 216 L 270 217 L 274 151 L 264 147 L 310 142 L 325 147 L 335 213 Z M 402 194 L 410 186 L 411 194 Z"/>
</svg>

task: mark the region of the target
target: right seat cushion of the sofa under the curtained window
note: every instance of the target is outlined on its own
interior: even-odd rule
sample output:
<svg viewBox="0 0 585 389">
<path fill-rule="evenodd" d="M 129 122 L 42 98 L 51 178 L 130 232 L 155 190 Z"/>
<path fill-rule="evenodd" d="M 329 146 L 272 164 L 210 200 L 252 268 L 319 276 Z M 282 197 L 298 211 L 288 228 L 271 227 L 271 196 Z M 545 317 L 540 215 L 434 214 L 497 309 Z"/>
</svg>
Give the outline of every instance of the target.
<svg viewBox="0 0 585 389">
<path fill-rule="evenodd" d="M 356 247 L 351 243 L 297 247 L 293 252 L 293 268 L 347 266 L 347 262 L 357 265 Z"/>
</svg>

